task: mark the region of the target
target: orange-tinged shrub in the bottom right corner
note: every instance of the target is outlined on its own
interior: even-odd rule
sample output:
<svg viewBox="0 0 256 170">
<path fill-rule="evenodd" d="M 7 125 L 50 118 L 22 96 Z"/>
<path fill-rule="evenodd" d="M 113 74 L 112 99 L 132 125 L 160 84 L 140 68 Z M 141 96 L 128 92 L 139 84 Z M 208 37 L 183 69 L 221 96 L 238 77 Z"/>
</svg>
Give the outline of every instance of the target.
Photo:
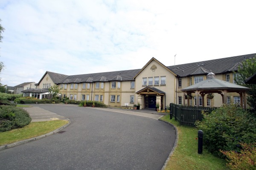
<svg viewBox="0 0 256 170">
<path fill-rule="evenodd" d="M 241 144 L 241 153 L 236 151 L 222 151 L 227 156 L 227 167 L 231 170 L 255 170 L 256 169 L 256 143 Z"/>
</svg>

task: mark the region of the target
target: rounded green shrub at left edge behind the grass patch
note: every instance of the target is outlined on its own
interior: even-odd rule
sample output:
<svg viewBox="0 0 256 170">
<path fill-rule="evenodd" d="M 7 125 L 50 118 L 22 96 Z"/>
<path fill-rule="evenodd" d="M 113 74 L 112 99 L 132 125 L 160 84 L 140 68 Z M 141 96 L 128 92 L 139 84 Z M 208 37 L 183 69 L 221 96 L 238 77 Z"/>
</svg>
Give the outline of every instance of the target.
<svg viewBox="0 0 256 170">
<path fill-rule="evenodd" d="M 15 106 L 0 106 L 0 132 L 20 128 L 31 122 L 29 113 Z"/>
</svg>

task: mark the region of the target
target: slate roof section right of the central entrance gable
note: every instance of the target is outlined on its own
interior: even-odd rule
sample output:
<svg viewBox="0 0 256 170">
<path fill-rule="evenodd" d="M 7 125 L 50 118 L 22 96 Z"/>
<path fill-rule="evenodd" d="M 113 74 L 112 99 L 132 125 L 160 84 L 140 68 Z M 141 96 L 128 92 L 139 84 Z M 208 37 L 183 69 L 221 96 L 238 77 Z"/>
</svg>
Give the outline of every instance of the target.
<svg viewBox="0 0 256 170">
<path fill-rule="evenodd" d="M 193 62 L 193 63 L 181 64 L 181 65 L 175 65 L 175 66 L 172 65 L 167 68 L 172 70 L 175 74 L 177 74 L 180 77 L 196 75 L 195 71 L 198 70 L 198 68 L 202 68 L 206 71 L 211 71 L 214 74 L 224 74 L 232 71 L 237 71 L 238 65 L 241 65 L 241 62 L 244 59 L 249 59 L 254 57 L 256 57 L 256 54 L 247 54 L 247 55 L 227 57 L 227 58 L 221 58 L 221 59 L 212 59 L 207 61 Z M 203 74 L 203 73 L 198 73 L 198 74 Z"/>
</svg>

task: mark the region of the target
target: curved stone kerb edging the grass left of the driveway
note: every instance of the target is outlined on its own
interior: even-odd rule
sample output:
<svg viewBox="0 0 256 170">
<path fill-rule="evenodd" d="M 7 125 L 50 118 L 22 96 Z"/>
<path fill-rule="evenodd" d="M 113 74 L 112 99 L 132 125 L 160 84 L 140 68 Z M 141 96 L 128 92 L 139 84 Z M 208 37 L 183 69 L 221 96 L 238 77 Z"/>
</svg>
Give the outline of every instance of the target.
<svg viewBox="0 0 256 170">
<path fill-rule="evenodd" d="M 55 134 L 55 133 L 58 133 L 59 131 L 61 131 L 62 129 L 64 129 L 64 128 L 67 127 L 68 125 L 70 125 L 70 123 L 71 123 L 70 119 L 67 119 L 67 120 L 68 120 L 68 122 L 67 122 L 66 125 L 63 125 L 63 126 L 59 127 L 59 128 L 56 129 L 56 130 L 53 130 L 53 131 L 51 131 L 51 132 L 49 132 L 49 133 L 46 133 L 46 134 L 44 134 L 44 135 L 41 135 L 41 136 L 36 136 L 36 137 L 30 138 L 30 139 L 25 139 L 25 140 L 22 140 L 22 141 L 19 141 L 19 142 L 15 142 L 15 143 L 12 143 L 12 144 L 2 145 L 2 146 L 0 146 L 0 150 L 8 149 L 8 148 L 10 148 L 10 147 L 15 147 L 15 146 L 18 146 L 18 145 L 20 145 L 20 144 L 26 144 L 26 143 L 28 143 L 28 142 L 32 142 L 32 141 L 35 141 L 35 140 L 42 139 L 42 138 L 44 138 L 44 137 L 53 135 L 53 134 Z"/>
</svg>

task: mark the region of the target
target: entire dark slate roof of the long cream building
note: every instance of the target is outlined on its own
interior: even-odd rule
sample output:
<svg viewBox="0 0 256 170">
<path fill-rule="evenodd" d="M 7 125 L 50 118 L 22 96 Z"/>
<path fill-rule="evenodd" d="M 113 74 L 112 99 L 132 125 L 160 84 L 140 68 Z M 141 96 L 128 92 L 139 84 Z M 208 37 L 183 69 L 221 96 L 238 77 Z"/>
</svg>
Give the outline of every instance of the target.
<svg viewBox="0 0 256 170">
<path fill-rule="evenodd" d="M 166 67 L 154 57 L 151 60 L 155 59 L 159 64 L 163 65 L 166 69 L 178 75 L 179 77 L 187 77 L 187 76 L 208 74 L 210 71 L 212 71 L 214 74 L 225 74 L 232 71 L 237 71 L 238 66 L 241 65 L 241 62 L 244 59 L 249 59 L 253 57 L 256 57 L 256 54 L 247 54 L 247 55 L 241 55 L 241 56 L 235 56 L 235 57 L 212 59 L 212 60 L 201 61 L 201 62 L 172 65 L 169 67 Z M 148 65 L 148 63 L 146 65 Z M 108 82 L 113 80 L 129 81 L 129 80 L 134 80 L 134 78 L 138 74 L 140 74 L 140 71 L 142 71 L 145 68 L 145 66 L 142 69 L 135 69 L 135 70 L 111 71 L 111 72 L 79 74 L 79 75 L 71 75 L 71 76 L 47 71 L 44 74 L 44 76 L 48 73 L 55 84 L 81 83 L 81 82 Z M 41 80 L 38 82 L 38 84 L 41 82 Z"/>
</svg>

